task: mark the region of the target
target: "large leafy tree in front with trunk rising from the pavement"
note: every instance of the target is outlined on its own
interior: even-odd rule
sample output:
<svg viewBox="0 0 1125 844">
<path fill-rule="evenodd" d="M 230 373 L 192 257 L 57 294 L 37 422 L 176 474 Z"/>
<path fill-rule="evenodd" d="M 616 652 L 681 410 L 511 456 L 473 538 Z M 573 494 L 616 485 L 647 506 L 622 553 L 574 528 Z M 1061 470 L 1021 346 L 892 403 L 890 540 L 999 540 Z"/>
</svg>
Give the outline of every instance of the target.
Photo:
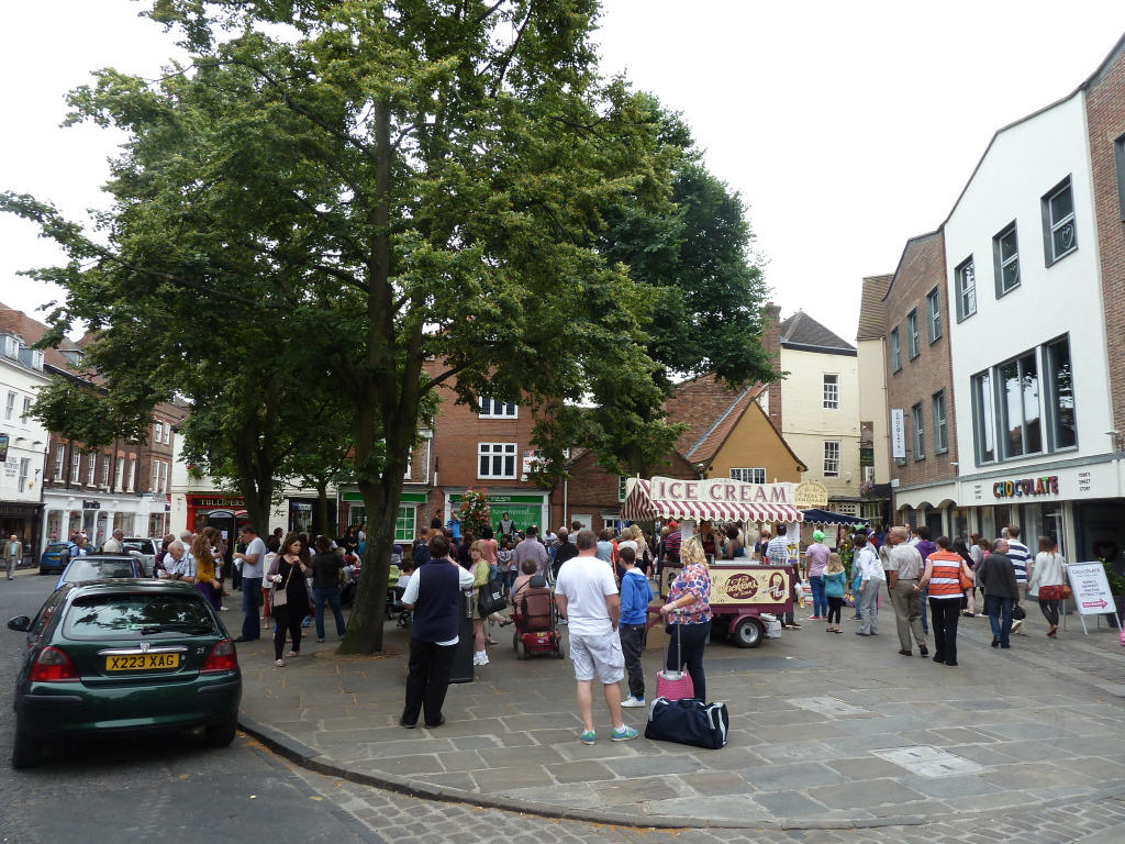
<svg viewBox="0 0 1125 844">
<path fill-rule="evenodd" d="M 666 160 L 649 104 L 596 75 L 596 10 L 161 0 L 152 16 L 182 34 L 191 65 L 155 82 L 102 71 L 72 98 L 73 119 L 128 133 L 102 242 L 50 206 L 4 200 L 70 251 L 40 273 L 70 290 L 60 325 L 88 320 L 109 347 L 150 305 L 179 314 L 141 332 L 169 381 L 219 362 L 278 375 L 288 399 L 262 396 L 255 419 L 299 404 L 289 368 L 330 374 L 370 519 L 344 653 L 381 648 L 380 587 L 432 395 L 520 397 L 555 455 L 560 401 L 659 402 L 644 291 L 596 232 L 602 209 L 666 198 Z M 227 325 L 245 333 L 208 342 Z"/>
</svg>

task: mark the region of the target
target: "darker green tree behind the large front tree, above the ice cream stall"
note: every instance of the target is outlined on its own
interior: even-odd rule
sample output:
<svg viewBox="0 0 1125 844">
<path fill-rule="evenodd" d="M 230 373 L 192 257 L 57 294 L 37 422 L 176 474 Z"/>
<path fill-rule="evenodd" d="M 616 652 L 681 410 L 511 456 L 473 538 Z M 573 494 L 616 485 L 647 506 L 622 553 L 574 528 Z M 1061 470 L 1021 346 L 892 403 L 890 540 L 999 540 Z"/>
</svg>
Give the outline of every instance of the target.
<svg viewBox="0 0 1125 844">
<path fill-rule="evenodd" d="M 655 98 L 649 108 L 662 146 L 674 155 L 670 203 L 638 197 L 606 209 L 598 248 L 648 291 L 645 352 L 656 363 L 654 379 L 665 396 L 685 376 L 712 374 L 731 386 L 774 380 L 778 372 L 762 345 L 766 286 L 746 205 L 708 171 L 681 116 Z M 648 474 L 666 457 L 654 448 L 663 440 L 647 438 L 662 411 L 628 392 L 610 396 L 587 414 L 587 437 L 598 442 L 603 463 Z"/>
</svg>

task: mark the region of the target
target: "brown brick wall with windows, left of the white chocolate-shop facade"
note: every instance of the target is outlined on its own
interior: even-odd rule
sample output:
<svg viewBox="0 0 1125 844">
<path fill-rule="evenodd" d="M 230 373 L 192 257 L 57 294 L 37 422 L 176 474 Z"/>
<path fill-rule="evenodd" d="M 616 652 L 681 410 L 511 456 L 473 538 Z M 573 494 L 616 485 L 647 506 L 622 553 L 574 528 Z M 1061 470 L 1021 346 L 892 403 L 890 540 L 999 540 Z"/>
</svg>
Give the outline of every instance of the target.
<svg viewBox="0 0 1125 844">
<path fill-rule="evenodd" d="M 938 290 L 942 313 L 942 336 L 929 342 L 927 333 L 926 296 L 934 288 Z M 891 330 L 898 326 L 901 338 L 902 368 L 892 371 L 888 361 L 888 408 L 901 408 L 907 423 L 907 461 L 904 466 L 891 460 L 891 477 L 897 477 L 903 486 L 935 483 L 953 478 L 957 461 L 955 407 L 953 404 L 953 368 L 950 358 L 950 303 L 945 279 L 945 237 L 942 232 L 914 237 L 908 241 L 894 272 L 890 289 L 883 300 L 886 350 L 890 354 Z M 907 315 L 918 312 L 918 334 L 920 353 L 911 360 L 907 336 Z M 935 452 L 934 419 L 932 398 L 938 390 L 945 390 L 945 430 L 948 450 Z M 917 459 L 914 454 L 914 420 L 911 408 L 921 404 L 925 430 L 925 457 Z M 934 502 L 937 503 L 937 502 Z"/>
</svg>

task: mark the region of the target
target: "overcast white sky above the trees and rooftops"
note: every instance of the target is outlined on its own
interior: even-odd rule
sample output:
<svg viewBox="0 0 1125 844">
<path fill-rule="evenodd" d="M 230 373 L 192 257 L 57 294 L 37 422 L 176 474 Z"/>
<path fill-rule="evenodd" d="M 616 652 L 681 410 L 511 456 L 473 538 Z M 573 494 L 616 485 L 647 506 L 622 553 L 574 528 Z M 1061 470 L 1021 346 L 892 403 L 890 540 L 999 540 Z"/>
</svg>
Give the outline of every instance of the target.
<svg viewBox="0 0 1125 844">
<path fill-rule="evenodd" d="M 684 114 L 710 170 L 749 206 L 766 280 L 855 340 L 861 279 L 893 272 L 945 219 L 996 129 L 1073 91 L 1125 33 L 1122 0 L 605 0 L 605 73 Z M 6 3 L 0 190 L 71 215 L 104 207 L 119 136 L 58 128 L 89 71 L 155 75 L 174 54 L 129 0 Z M 60 297 L 20 269 L 58 253 L 0 217 L 0 302 Z M 42 314 L 38 314 L 42 318 Z"/>
</svg>

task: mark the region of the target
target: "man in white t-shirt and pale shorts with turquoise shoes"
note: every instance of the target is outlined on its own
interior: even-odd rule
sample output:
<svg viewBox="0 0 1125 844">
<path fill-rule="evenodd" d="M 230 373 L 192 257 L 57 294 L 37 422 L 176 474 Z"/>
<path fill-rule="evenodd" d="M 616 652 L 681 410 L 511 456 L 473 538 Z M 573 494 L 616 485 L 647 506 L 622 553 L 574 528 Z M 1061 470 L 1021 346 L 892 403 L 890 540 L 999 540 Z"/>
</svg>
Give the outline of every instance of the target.
<svg viewBox="0 0 1125 844">
<path fill-rule="evenodd" d="M 526 541 L 526 540 L 525 540 Z M 628 742 L 637 730 L 621 719 L 621 686 L 626 675 L 626 659 L 618 636 L 621 616 L 621 595 L 613 581 L 613 569 L 596 556 L 597 537 L 594 531 L 578 531 L 578 556 L 559 569 L 555 584 L 555 603 L 559 614 L 569 620 L 570 659 L 578 682 L 578 710 L 582 713 L 583 744 L 594 744 L 594 675 L 605 693 L 613 729 L 611 742 Z"/>
</svg>

